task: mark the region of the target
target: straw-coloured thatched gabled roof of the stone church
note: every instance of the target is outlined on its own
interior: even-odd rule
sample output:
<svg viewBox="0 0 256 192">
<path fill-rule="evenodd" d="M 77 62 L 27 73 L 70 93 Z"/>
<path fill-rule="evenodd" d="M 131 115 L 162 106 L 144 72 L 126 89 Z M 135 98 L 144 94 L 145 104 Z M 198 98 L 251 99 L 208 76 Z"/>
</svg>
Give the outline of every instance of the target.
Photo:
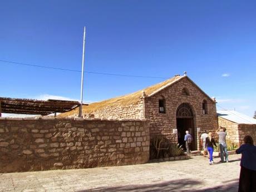
<svg viewBox="0 0 256 192">
<path fill-rule="evenodd" d="M 92 111 L 96 111 L 98 109 L 102 109 L 102 108 L 107 107 L 107 106 L 119 107 L 119 106 L 129 106 L 129 105 L 132 105 L 132 104 L 136 104 L 137 102 L 140 101 L 140 99 L 142 97 L 142 91 L 145 91 L 146 97 L 151 97 L 151 96 L 155 95 L 157 92 L 160 92 L 161 90 L 164 90 L 164 88 L 173 85 L 174 83 L 182 80 L 183 78 L 188 78 L 188 80 L 191 83 L 193 83 L 196 87 L 198 87 L 192 80 L 190 80 L 190 78 L 188 76 L 176 75 L 172 78 L 169 78 L 166 81 L 157 83 L 157 84 L 152 85 L 150 87 L 146 87 L 146 88 L 144 88 L 140 91 L 136 91 L 136 92 L 130 93 L 128 95 L 115 97 L 115 98 L 100 101 L 100 102 L 95 102 L 95 103 L 92 103 L 88 106 L 83 106 L 82 112 L 85 113 L 85 114 L 88 114 Z M 199 88 L 199 90 L 201 92 L 203 92 L 200 88 Z M 205 96 L 209 97 L 208 95 L 206 95 L 206 93 L 204 93 L 204 94 L 205 94 Z M 210 100 L 213 101 L 211 98 L 210 98 Z M 78 109 L 66 112 L 65 114 L 61 114 L 60 116 L 70 116 L 70 115 L 75 115 L 75 114 L 78 114 Z"/>
</svg>

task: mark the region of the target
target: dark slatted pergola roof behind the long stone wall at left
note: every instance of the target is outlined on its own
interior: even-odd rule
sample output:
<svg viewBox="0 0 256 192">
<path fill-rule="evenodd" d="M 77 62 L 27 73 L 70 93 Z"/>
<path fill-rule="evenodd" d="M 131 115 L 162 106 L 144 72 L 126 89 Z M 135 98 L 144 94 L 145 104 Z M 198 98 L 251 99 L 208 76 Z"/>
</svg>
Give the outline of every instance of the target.
<svg viewBox="0 0 256 192">
<path fill-rule="evenodd" d="M 67 112 L 79 106 L 78 101 L 66 100 L 33 100 L 33 99 L 14 99 L 0 97 L 0 117 L 1 113 L 9 114 L 29 114 L 29 115 L 49 115 L 57 112 Z"/>
</svg>

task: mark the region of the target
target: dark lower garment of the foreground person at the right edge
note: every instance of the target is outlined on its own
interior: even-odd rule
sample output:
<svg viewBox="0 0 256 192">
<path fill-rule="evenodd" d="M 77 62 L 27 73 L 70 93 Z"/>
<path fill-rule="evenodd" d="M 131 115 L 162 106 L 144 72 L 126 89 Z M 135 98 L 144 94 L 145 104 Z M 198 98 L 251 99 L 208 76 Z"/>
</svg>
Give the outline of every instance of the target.
<svg viewBox="0 0 256 192">
<path fill-rule="evenodd" d="M 238 192 L 256 191 L 256 171 L 241 166 Z"/>
</svg>

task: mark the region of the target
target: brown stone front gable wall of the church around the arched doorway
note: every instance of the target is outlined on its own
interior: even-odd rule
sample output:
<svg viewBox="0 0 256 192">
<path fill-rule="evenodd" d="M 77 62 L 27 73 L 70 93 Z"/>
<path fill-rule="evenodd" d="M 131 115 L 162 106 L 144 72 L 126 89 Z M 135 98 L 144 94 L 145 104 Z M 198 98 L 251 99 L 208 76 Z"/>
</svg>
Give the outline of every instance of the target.
<svg viewBox="0 0 256 192">
<path fill-rule="evenodd" d="M 189 92 L 189 96 L 181 94 L 183 88 Z M 166 113 L 159 113 L 159 99 L 165 99 Z M 207 101 L 208 114 L 203 114 L 203 100 Z M 178 142 L 176 125 L 176 111 L 178 107 L 188 103 L 193 110 L 194 131 L 192 135 L 194 141 L 198 141 L 197 127 L 200 130 L 218 129 L 218 117 L 216 114 L 216 105 L 209 99 L 198 87 L 196 87 L 187 78 L 174 83 L 170 87 L 156 93 L 156 95 L 145 98 L 145 118 L 150 120 L 150 136 L 164 135 L 171 142 Z M 194 149 L 199 147 L 199 142 L 195 142 Z"/>
</svg>

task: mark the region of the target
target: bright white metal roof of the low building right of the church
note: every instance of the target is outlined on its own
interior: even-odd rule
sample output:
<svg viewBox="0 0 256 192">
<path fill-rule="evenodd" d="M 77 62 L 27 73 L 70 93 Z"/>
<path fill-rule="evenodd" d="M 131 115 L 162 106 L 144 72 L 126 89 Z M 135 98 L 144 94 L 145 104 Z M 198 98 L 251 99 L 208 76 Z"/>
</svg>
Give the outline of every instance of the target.
<svg viewBox="0 0 256 192">
<path fill-rule="evenodd" d="M 237 111 L 217 111 L 217 115 L 237 124 L 256 124 L 256 119 L 244 114 L 240 114 L 240 112 Z"/>
</svg>

